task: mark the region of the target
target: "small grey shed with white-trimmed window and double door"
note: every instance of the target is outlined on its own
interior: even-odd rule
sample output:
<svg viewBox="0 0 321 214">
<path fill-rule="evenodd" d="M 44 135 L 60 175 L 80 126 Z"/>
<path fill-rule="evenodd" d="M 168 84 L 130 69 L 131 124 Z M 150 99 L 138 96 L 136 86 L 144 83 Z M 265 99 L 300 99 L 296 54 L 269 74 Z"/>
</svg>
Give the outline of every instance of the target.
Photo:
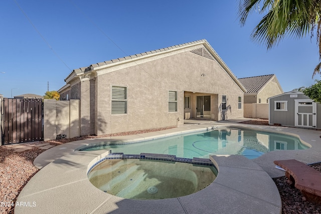
<svg viewBox="0 0 321 214">
<path fill-rule="evenodd" d="M 270 97 L 269 102 L 269 124 L 321 128 L 321 104 L 302 92 L 286 92 Z"/>
</svg>

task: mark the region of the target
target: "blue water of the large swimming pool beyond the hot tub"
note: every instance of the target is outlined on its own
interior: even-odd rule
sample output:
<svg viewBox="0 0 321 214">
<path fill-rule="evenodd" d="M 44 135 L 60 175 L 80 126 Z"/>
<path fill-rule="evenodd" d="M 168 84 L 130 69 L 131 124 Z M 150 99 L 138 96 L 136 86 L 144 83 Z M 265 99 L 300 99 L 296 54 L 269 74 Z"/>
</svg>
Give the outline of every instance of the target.
<svg viewBox="0 0 321 214">
<path fill-rule="evenodd" d="M 209 155 L 243 155 L 249 159 L 274 150 L 306 149 L 296 137 L 250 129 L 224 128 L 212 131 L 163 137 L 126 144 L 87 147 L 81 150 L 111 149 L 124 154 L 159 153 L 184 158 L 208 158 Z"/>
</svg>

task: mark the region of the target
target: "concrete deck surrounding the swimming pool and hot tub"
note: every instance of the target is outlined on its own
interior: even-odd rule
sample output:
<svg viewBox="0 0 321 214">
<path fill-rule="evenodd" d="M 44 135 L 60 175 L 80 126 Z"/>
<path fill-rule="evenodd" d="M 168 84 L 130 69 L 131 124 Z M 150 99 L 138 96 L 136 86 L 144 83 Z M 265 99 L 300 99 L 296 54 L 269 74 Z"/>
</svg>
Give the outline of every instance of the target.
<svg viewBox="0 0 321 214">
<path fill-rule="evenodd" d="M 321 131 L 235 122 L 238 121 L 186 121 L 182 126 L 164 131 L 80 140 L 50 148 L 35 159 L 35 166 L 41 170 L 19 194 L 17 202 L 23 205 L 16 205 L 15 213 L 281 213 L 281 198 L 271 177 L 283 176 L 284 171 L 276 169 L 273 161 L 320 162 Z M 97 189 L 89 182 L 87 171 L 108 151 L 75 151 L 106 140 L 151 139 L 212 126 L 291 134 L 312 147 L 272 151 L 252 160 L 240 155 L 213 155 L 210 159 L 219 173 L 212 184 L 191 195 L 162 200 L 124 199 Z"/>
</svg>

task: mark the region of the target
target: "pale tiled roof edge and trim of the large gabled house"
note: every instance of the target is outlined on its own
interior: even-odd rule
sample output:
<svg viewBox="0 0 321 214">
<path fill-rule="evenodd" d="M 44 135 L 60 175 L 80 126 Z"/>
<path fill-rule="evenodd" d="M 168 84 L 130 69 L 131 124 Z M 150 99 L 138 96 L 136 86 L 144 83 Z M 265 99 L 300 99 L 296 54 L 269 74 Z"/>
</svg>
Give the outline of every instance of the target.
<svg viewBox="0 0 321 214">
<path fill-rule="evenodd" d="M 105 68 L 108 66 L 111 67 L 113 65 L 116 66 L 121 63 L 135 62 L 140 59 L 145 59 L 146 57 L 152 57 L 152 56 L 156 56 L 156 55 L 161 55 L 163 53 L 165 54 L 165 53 L 169 53 L 169 52 L 174 52 L 176 50 L 178 51 L 183 48 L 188 48 L 188 47 L 192 47 L 192 46 L 196 46 L 196 45 L 200 45 L 200 44 L 203 44 L 210 53 L 210 55 L 207 55 L 205 57 L 210 58 L 212 60 L 215 59 L 219 63 L 219 65 L 228 73 L 228 75 L 235 81 L 235 83 L 240 87 L 240 89 L 245 92 L 245 88 L 243 87 L 243 85 L 238 81 L 236 76 L 232 73 L 232 71 L 227 67 L 227 65 L 223 62 L 223 60 L 218 56 L 218 54 L 214 51 L 214 49 L 211 47 L 211 45 L 205 39 L 197 40 L 197 41 L 189 42 L 189 43 L 184 43 L 181 45 L 175 45 L 175 46 L 171 46 L 171 47 L 167 47 L 167 48 L 157 49 L 154 51 L 148 51 L 148 52 L 144 52 L 144 53 L 140 53 L 140 54 L 130 55 L 127 57 L 122 57 L 122 58 L 118 58 L 118 59 L 114 59 L 114 60 L 109 60 L 109 61 L 105 61 L 105 62 L 101 62 L 101 63 L 92 64 L 89 67 L 75 69 L 66 77 L 65 82 L 68 83 L 75 76 L 86 75 L 87 72 L 90 73 L 90 71 L 99 70 L 100 68 L 102 69 L 102 68 Z M 60 89 L 60 90 L 62 90 L 62 89 Z"/>
</svg>

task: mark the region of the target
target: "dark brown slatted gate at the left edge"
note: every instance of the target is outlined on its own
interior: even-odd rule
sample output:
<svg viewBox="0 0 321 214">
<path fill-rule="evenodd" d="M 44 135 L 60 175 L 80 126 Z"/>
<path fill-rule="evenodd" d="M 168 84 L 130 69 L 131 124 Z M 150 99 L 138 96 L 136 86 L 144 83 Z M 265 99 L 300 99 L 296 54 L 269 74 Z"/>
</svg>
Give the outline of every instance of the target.
<svg viewBox="0 0 321 214">
<path fill-rule="evenodd" d="M 9 99 L 2 101 L 2 143 L 43 140 L 42 99 Z"/>
</svg>

